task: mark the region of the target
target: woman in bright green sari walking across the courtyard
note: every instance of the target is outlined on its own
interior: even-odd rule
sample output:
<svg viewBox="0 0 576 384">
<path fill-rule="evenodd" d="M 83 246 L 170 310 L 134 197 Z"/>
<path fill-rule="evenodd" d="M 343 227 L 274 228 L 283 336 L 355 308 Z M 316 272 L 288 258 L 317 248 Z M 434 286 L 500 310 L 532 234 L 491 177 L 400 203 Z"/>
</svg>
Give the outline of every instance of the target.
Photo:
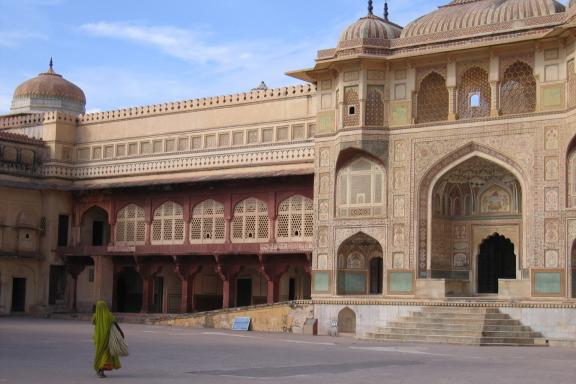
<svg viewBox="0 0 576 384">
<path fill-rule="evenodd" d="M 108 310 L 108 305 L 104 301 L 96 303 L 96 311 L 92 316 L 94 324 L 94 346 L 96 355 L 94 356 L 94 370 L 98 377 L 106 377 L 104 371 L 120 369 L 120 359 L 118 356 L 111 356 L 108 349 L 108 339 L 110 337 L 110 328 L 115 326 L 116 318 Z"/>
</svg>

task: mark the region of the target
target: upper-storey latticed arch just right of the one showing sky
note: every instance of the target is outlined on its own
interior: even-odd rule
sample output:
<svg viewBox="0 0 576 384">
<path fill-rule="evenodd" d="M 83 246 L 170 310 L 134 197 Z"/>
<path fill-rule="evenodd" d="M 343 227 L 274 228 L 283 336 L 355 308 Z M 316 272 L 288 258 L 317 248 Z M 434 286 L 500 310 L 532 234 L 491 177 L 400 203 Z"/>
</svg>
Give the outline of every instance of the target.
<svg viewBox="0 0 576 384">
<path fill-rule="evenodd" d="M 500 111 L 503 115 L 536 110 L 536 79 L 532 67 L 517 61 L 506 69 L 500 85 Z"/>
</svg>

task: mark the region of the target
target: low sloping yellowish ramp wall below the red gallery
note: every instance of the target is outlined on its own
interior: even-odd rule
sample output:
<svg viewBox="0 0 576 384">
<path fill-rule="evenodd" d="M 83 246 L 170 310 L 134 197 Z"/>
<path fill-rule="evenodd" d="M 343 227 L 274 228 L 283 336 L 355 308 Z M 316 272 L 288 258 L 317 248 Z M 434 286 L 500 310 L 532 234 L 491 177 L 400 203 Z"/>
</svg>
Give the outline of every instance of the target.
<svg viewBox="0 0 576 384">
<path fill-rule="evenodd" d="M 305 301 L 279 303 L 175 315 L 169 318 L 150 319 L 147 323 L 175 327 L 231 329 L 236 317 L 250 317 L 252 331 L 302 333 L 306 319 L 313 317 L 313 307 Z"/>
</svg>

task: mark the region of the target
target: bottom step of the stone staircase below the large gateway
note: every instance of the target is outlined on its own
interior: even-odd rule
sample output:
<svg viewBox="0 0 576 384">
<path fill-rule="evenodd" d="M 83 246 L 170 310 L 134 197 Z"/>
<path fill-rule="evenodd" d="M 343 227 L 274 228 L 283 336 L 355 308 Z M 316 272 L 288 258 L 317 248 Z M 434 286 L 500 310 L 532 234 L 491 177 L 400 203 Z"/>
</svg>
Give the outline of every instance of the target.
<svg viewBox="0 0 576 384">
<path fill-rule="evenodd" d="M 534 345 L 533 338 L 514 337 L 479 337 L 479 336 L 446 336 L 446 335 L 411 335 L 403 333 L 369 333 L 371 340 L 401 341 L 411 343 L 440 343 L 440 344 L 468 344 L 468 345 Z"/>
</svg>

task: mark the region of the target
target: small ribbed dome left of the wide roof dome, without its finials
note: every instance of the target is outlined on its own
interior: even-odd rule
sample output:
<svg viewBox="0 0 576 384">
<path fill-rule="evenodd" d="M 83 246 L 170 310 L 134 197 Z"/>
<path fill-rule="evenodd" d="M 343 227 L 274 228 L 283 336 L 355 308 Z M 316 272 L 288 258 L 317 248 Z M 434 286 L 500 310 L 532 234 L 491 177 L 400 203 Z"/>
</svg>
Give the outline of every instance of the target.
<svg viewBox="0 0 576 384">
<path fill-rule="evenodd" d="M 390 40 L 400 37 L 402 27 L 373 14 L 361 18 L 342 32 L 338 46 L 348 42 L 365 41 L 370 44 L 378 40 Z"/>
</svg>

